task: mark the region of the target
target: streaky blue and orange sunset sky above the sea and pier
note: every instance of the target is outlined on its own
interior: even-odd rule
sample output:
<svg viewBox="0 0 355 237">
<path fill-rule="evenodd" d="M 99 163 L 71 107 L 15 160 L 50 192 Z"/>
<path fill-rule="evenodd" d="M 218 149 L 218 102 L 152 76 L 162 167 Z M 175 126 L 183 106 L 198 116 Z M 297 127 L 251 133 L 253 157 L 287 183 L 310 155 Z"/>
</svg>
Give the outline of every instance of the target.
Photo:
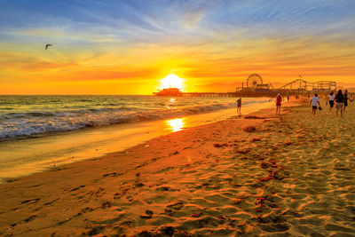
<svg viewBox="0 0 355 237">
<path fill-rule="evenodd" d="M 152 94 L 169 74 L 184 91 L 233 91 L 251 73 L 354 86 L 354 12 L 353 0 L 1 0 L 0 94 Z"/>
</svg>

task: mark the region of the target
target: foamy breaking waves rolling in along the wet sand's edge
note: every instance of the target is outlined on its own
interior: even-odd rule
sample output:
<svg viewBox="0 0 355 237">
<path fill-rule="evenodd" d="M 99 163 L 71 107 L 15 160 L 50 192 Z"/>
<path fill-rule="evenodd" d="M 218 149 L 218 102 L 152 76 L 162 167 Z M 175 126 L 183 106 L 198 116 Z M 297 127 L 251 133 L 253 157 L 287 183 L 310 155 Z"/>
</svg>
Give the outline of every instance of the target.
<svg viewBox="0 0 355 237">
<path fill-rule="evenodd" d="M 248 101 L 246 104 L 265 101 Z M 9 113 L 0 116 L 0 138 L 28 137 L 59 131 L 80 130 L 124 122 L 168 119 L 185 115 L 207 113 L 235 107 L 231 104 L 183 107 L 175 109 L 91 108 L 75 111 Z"/>
</svg>

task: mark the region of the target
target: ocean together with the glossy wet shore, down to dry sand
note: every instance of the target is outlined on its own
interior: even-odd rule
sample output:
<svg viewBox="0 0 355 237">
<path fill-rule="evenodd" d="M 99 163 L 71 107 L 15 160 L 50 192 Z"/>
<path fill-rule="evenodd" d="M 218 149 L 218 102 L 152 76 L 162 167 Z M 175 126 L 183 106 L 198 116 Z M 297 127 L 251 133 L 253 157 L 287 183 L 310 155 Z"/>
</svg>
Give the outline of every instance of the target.
<svg viewBox="0 0 355 237">
<path fill-rule="evenodd" d="M 243 98 L 241 112 L 272 107 Z M 0 183 L 236 114 L 236 98 L 0 96 Z"/>
</svg>

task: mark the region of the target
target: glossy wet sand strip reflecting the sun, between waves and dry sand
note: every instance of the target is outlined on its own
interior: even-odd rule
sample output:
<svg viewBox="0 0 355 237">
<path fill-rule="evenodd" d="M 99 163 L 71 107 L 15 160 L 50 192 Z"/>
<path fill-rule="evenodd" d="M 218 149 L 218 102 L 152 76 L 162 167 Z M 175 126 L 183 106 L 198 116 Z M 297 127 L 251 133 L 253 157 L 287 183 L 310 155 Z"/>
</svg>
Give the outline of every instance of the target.
<svg viewBox="0 0 355 237">
<path fill-rule="evenodd" d="M 244 113 L 248 115 L 261 107 L 269 106 L 269 103 L 247 105 L 244 107 Z M 221 121 L 233 116 L 235 110 L 236 108 L 227 108 L 199 115 L 113 124 L 52 136 L 5 141 L 0 146 L 0 156 L 3 158 L 0 167 L 7 168 L 0 169 L 0 183 L 6 179 L 28 176 L 67 163 L 99 158 L 177 130 Z M 23 163 L 22 160 L 28 162 Z"/>
</svg>

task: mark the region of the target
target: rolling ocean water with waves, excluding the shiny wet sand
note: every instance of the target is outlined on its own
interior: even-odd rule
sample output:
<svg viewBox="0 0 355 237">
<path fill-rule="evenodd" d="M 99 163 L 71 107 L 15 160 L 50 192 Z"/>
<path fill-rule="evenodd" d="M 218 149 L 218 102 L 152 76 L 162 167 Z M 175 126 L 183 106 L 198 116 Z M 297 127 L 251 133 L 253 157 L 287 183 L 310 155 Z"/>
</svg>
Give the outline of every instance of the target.
<svg viewBox="0 0 355 237">
<path fill-rule="evenodd" d="M 0 141 L 116 123 L 151 121 L 235 107 L 235 98 L 0 96 Z M 243 99 L 243 105 L 267 99 Z"/>
</svg>

